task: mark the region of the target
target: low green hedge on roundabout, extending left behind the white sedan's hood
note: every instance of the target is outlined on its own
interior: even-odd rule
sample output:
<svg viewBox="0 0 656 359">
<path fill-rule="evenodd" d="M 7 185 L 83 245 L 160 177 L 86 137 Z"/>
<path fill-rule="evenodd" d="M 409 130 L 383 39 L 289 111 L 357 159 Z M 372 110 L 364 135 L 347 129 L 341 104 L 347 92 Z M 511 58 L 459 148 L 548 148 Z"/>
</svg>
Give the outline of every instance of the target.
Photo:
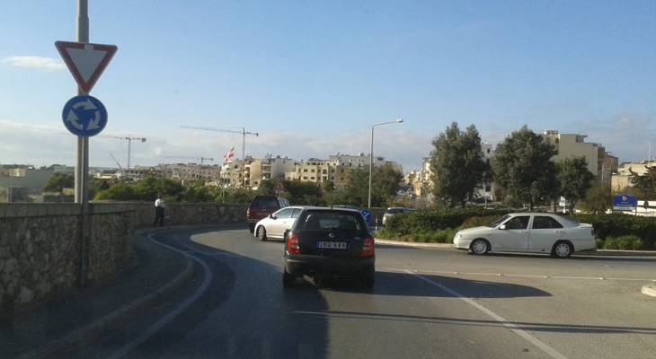
<svg viewBox="0 0 656 359">
<path fill-rule="evenodd" d="M 489 210 L 481 207 L 471 207 L 454 211 L 417 211 L 409 214 L 394 215 L 389 218 L 386 223 L 386 230 L 394 232 L 397 235 L 405 235 L 417 231 L 435 232 L 449 228 L 458 228 L 467 219 L 472 217 L 499 217 L 508 213 L 508 210 Z"/>
</svg>

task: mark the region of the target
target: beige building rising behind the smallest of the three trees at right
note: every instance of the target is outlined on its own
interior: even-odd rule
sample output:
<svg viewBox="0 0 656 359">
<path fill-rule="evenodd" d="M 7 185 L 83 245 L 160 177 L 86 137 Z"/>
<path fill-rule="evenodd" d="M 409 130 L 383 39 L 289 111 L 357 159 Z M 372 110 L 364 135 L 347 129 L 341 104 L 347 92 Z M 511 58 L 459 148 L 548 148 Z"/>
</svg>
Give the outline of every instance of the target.
<svg viewBox="0 0 656 359">
<path fill-rule="evenodd" d="M 556 154 L 552 161 L 584 156 L 588 162 L 588 171 L 597 176 L 598 180 L 610 183 L 610 173 L 617 168 L 617 157 L 607 153 L 603 145 L 585 142 L 586 135 L 561 134 L 554 130 L 547 130 L 543 135 L 555 147 Z"/>
</svg>

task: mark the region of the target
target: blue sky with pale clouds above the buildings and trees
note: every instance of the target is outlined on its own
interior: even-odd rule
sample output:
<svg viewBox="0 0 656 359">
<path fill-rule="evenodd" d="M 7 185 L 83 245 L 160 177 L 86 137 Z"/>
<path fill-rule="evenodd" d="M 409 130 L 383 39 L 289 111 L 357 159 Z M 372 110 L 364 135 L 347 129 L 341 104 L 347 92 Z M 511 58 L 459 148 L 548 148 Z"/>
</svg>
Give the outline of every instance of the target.
<svg viewBox="0 0 656 359">
<path fill-rule="evenodd" d="M 93 88 L 101 136 L 146 137 L 131 164 L 246 153 L 368 153 L 418 169 L 456 121 L 497 144 L 527 125 L 588 135 L 620 162 L 656 155 L 656 2 L 90 0 L 90 40 L 116 56 Z M 0 12 L 0 163 L 75 163 L 61 111 L 75 95 L 54 47 L 75 0 Z M 90 165 L 127 163 L 92 137 Z M 171 157 L 176 157 L 175 159 Z M 180 157 L 180 158 L 178 158 Z"/>
</svg>

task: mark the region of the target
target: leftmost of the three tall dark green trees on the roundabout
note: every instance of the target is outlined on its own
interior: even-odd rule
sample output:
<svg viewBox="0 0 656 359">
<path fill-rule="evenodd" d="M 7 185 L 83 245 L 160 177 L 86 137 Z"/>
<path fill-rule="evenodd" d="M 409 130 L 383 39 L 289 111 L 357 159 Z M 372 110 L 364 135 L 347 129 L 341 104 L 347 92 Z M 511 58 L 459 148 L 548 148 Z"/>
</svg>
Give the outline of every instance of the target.
<svg viewBox="0 0 656 359">
<path fill-rule="evenodd" d="M 433 195 L 448 206 L 465 206 L 466 201 L 474 200 L 474 190 L 483 181 L 487 169 L 481 136 L 474 125 L 461 132 L 457 122 L 453 122 L 432 144 Z"/>
</svg>

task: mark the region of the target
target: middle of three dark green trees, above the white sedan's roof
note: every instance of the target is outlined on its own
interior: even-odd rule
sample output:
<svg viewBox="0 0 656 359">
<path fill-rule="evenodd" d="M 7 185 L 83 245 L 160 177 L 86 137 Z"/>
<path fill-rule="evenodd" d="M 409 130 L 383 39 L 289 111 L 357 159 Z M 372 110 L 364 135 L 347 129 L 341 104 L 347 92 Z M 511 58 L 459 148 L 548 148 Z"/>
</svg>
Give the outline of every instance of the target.
<svg viewBox="0 0 656 359">
<path fill-rule="evenodd" d="M 506 200 L 513 205 L 536 203 L 551 197 L 556 181 L 556 168 L 551 157 L 555 150 L 543 136 L 525 125 L 497 145 L 492 159 L 494 182 L 501 186 Z"/>
</svg>

